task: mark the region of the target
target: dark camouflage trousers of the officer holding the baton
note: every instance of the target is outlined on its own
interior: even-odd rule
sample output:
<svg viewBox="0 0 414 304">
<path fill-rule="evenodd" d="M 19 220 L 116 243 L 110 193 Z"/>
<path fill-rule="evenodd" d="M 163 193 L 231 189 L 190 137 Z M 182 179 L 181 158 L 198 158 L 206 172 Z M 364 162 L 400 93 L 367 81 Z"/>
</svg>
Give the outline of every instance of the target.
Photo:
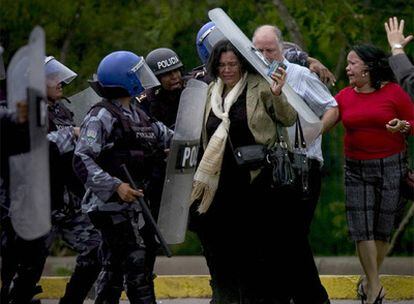
<svg viewBox="0 0 414 304">
<path fill-rule="evenodd" d="M 146 262 L 146 250 L 134 233 L 129 221 L 100 226 L 103 270 L 98 278 L 95 303 L 115 304 L 125 284 L 126 294 L 133 304 L 154 304 L 152 272 Z"/>
</svg>

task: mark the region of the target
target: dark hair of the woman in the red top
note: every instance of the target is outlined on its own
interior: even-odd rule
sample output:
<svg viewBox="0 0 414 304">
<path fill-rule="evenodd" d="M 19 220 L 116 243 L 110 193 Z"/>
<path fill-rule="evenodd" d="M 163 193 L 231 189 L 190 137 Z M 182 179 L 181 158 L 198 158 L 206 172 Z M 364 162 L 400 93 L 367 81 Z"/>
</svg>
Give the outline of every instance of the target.
<svg viewBox="0 0 414 304">
<path fill-rule="evenodd" d="M 370 85 L 375 90 L 381 87 L 383 81 L 395 82 L 394 73 L 388 63 L 389 54 L 371 44 L 354 45 L 351 50 L 368 66 Z"/>
</svg>

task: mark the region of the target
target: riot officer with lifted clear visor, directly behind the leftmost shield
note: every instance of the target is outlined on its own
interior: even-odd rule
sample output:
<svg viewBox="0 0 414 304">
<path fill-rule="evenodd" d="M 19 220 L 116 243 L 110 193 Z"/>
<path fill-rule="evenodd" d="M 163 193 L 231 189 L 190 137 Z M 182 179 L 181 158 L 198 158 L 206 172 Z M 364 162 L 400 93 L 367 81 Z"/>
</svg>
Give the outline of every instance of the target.
<svg viewBox="0 0 414 304">
<path fill-rule="evenodd" d="M 52 231 L 47 238 L 50 248 L 60 236 L 79 253 L 74 272 L 59 303 L 81 304 L 100 272 L 99 232 L 80 209 L 84 187 L 72 168 L 73 152 L 79 128 L 74 126 L 73 113 L 61 101 L 62 86 L 77 75 L 54 57 L 45 59 L 50 141 L 50 180 Z"/>
</svg>

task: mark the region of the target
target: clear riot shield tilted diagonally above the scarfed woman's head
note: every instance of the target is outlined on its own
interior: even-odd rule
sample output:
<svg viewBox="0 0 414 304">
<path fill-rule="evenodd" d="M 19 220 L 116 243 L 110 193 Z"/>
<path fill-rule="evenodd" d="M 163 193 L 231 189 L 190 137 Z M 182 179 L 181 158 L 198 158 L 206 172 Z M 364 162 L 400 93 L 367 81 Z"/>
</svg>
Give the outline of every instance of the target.
<svg viewBox="0 0 414 304">
<path fill-rule="evenodd" d="M 229 16 L 221 9 L 215 8 L 208 12 L 208 16 L 226 36 L 228 40 L 239 50 L 246 60 L 257 70 L 257 72 L 266 79 L 269 84 L 273 81 L 267 75 L 269 63 L 262 53 L 256 49 L 249 38 L 238 28 L 238 26 L 230 19 Z M 320 119 L 313 113 L 303 99 L 285 83 L 282 88 L 288 102 L 298 112 L 303 128 L 303 134 L 308 144 L 311 144 L 320 134 L 322 123 Z"/>
</svg>

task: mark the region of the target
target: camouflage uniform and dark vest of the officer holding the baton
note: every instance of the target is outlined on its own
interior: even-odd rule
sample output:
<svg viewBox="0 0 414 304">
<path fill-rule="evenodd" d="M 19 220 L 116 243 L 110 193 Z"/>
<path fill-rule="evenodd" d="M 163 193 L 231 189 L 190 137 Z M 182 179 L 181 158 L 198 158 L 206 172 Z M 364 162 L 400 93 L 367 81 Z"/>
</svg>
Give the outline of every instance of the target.
<svg viewBox="0 0 414 304">
<path fill-rule="evenodd" d="M 154 238 L 139 208 L 122 201 L 116 189 L 126 181 L 120 168 L 125 164 L 147 202 L 156 204 L 159 198 L 151 193 L 160 189 L 152 189 L 154 168 L 164 162 L 163 150 L 171 137 L 172 131 L 151 121 L 135 103 L 126 108 L 117 100 L 104 99 L 85 117 L 74 166 L 88 188 L 82 207 L 103 240 L 95 303 L 118 303 L 124 280 L 131 303 L 155 303 L 152 265 L 146 261 Z"/>
</svg>

